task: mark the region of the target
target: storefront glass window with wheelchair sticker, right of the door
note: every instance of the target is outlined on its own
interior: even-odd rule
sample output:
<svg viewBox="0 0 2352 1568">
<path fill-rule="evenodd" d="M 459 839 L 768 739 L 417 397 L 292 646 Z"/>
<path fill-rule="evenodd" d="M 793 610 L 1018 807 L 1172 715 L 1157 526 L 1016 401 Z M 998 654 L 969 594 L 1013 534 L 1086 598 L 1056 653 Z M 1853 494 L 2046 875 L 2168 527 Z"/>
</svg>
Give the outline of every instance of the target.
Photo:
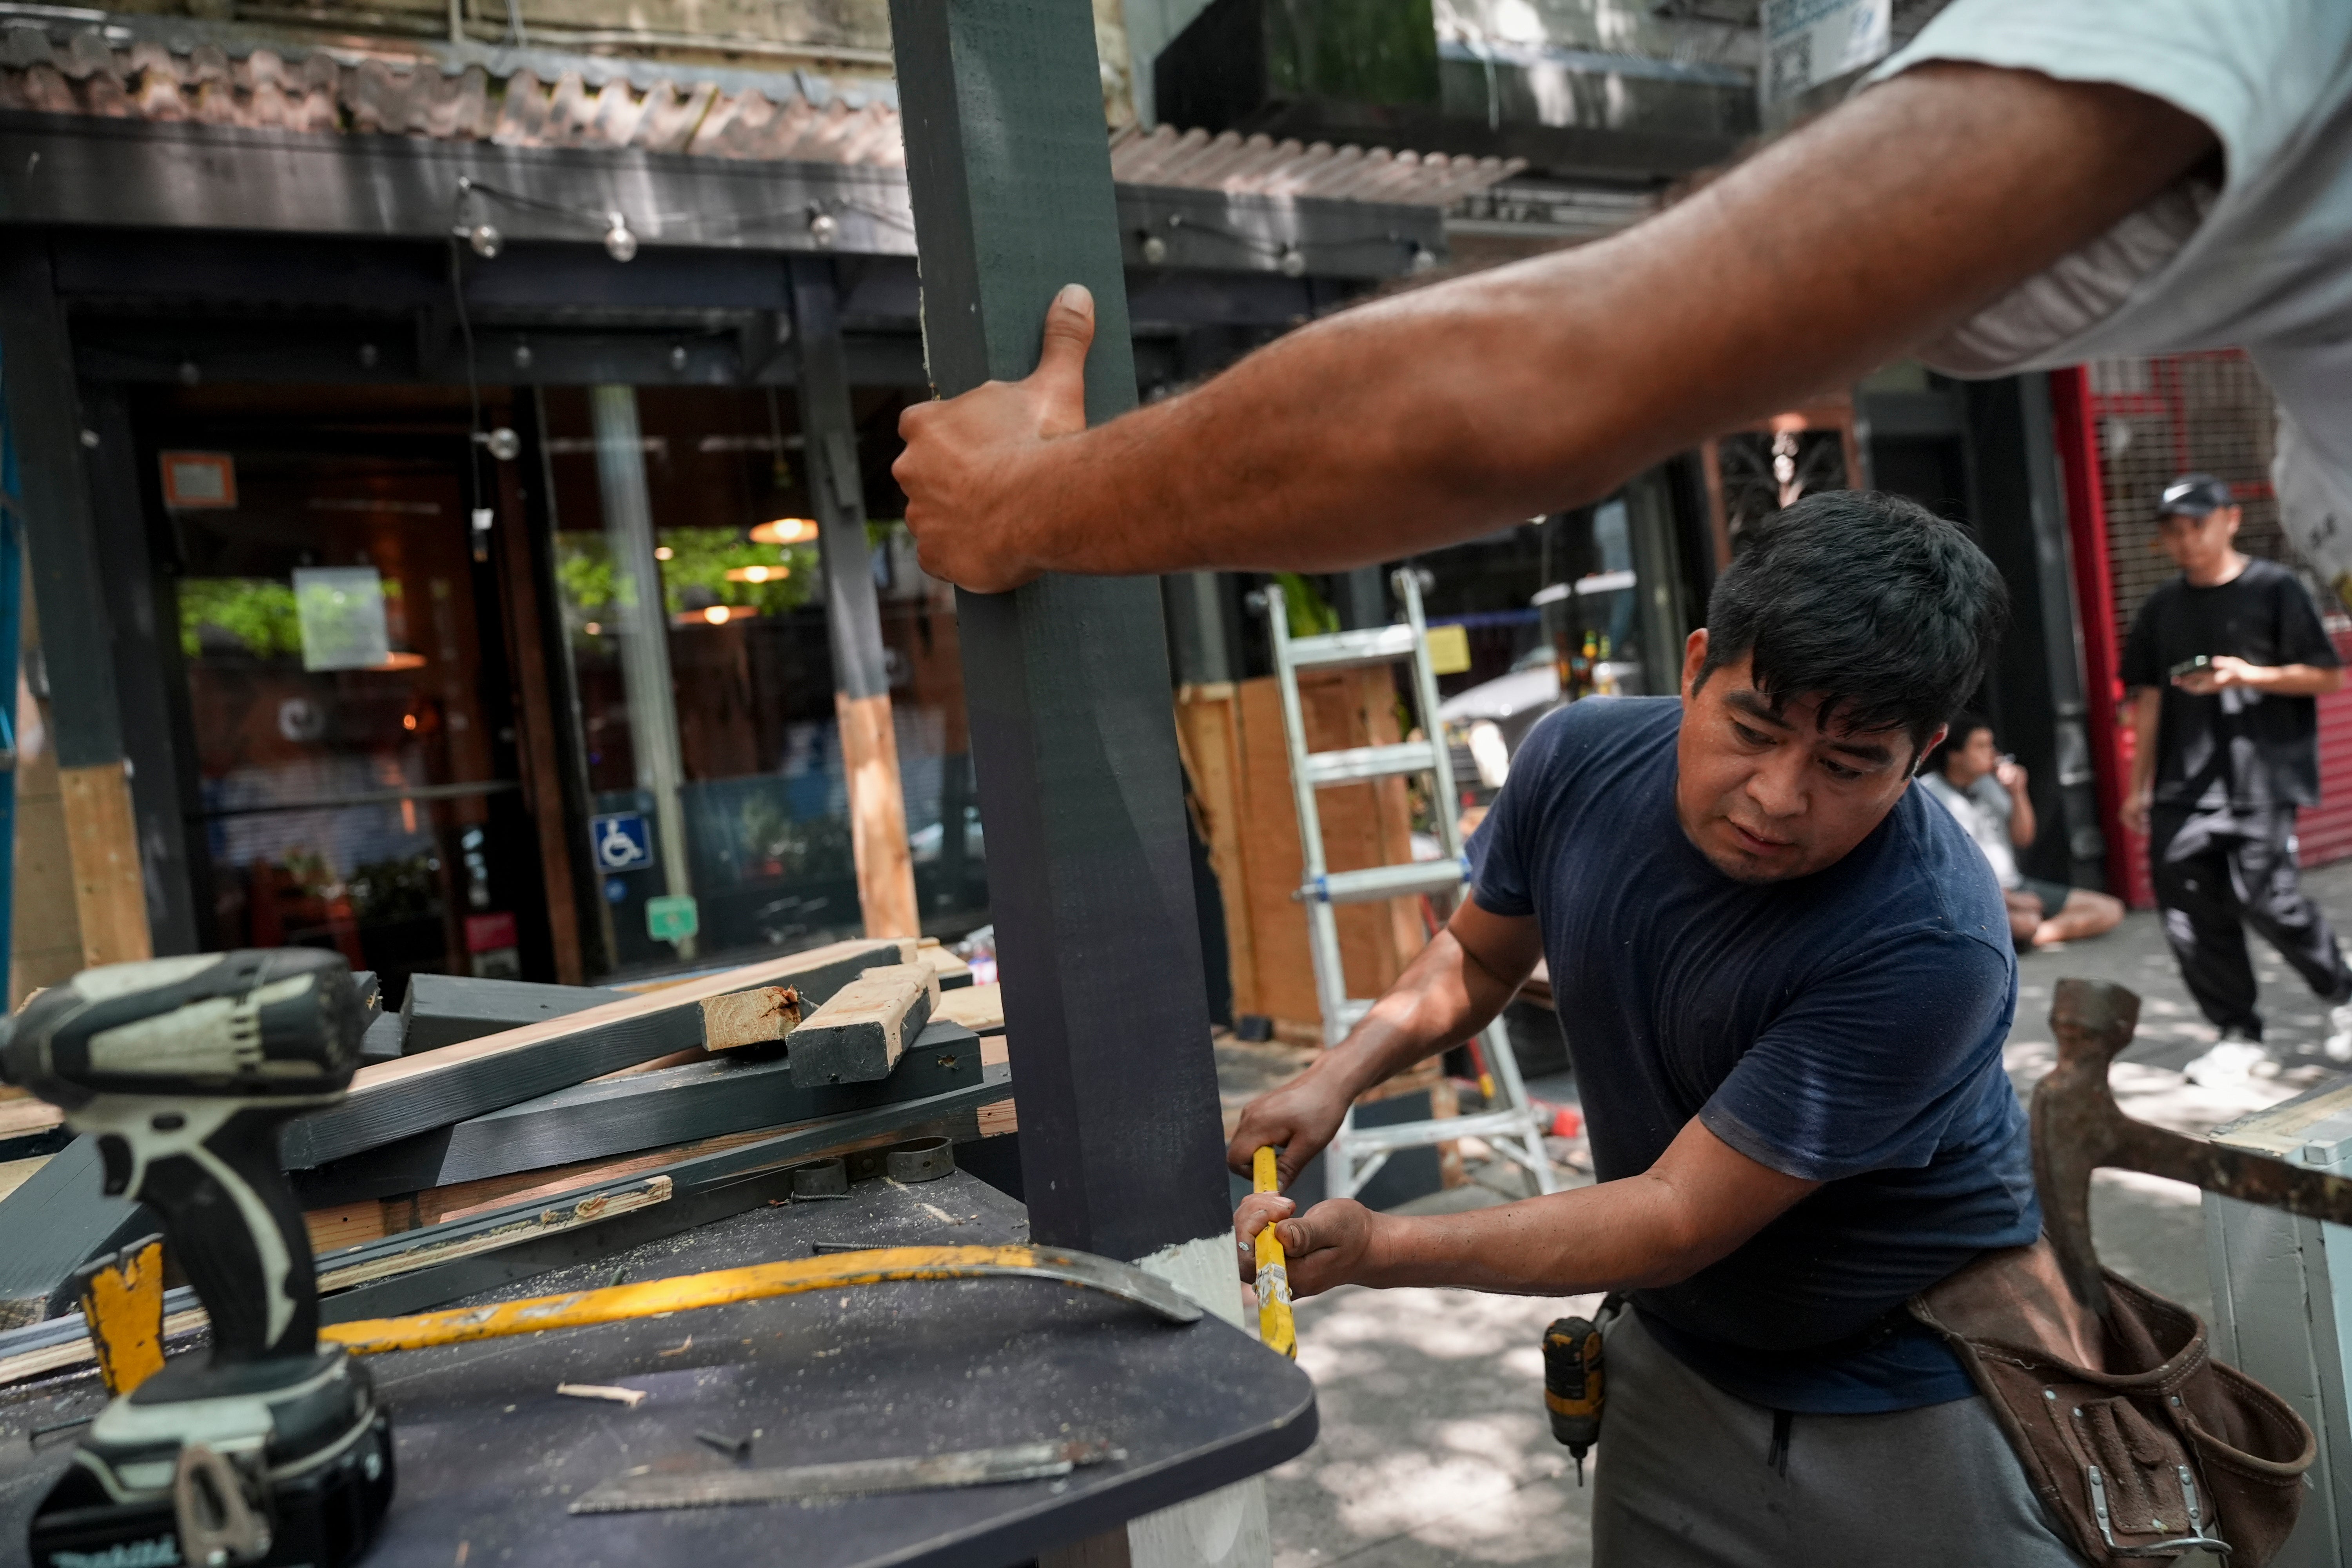
<svg viewBox="0 0 2352 1568">
<path fill-rule="evenodd" d="M 550 388 L 543 409 L 607 969 L 863 931 L 790 393 Z M 868 536 L 924 929 L 962 936 L 985 872 L 953 597 L 903 529 Z"/>
</svg>

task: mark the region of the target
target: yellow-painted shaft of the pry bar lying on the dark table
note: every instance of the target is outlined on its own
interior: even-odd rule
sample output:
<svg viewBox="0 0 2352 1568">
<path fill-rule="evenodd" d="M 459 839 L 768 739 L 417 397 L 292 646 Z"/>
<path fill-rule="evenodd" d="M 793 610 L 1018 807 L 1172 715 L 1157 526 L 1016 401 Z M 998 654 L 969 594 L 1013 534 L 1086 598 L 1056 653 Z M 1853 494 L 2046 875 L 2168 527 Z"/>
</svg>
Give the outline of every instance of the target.
<svg viewBox="0 0 2352 1568">
<path fill-rule="evenodd" d="M 318 1338 L 341 1345 L 355 1356 L 379 1356 L 388 1349 L 468 1345 L 548 1328 L 583 1328 L 694 1307 L 727 1307 L 802 1291 L 873 1286 L 891 1279 L 969 1279 L 990 1269 L 1030 1269 L 1040 1262 L 1037 1251 L 1028 1246 L 889 1246 L 870 1253 L 826 1253 L 793 1262 L 757 1262 L 741 1269 L 604 1286 L 602 1291 L 539 1295 L 494 1307 L 334 1324 L 320 1328 Z"/>
</svg>

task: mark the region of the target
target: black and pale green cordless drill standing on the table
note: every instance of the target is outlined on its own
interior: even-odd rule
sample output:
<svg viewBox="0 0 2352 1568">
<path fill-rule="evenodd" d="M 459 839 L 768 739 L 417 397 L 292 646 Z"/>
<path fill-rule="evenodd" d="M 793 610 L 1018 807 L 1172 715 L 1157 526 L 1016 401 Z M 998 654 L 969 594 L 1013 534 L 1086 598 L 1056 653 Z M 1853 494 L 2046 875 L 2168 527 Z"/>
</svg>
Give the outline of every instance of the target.
<svg viewBox="0 0 2352 1568">
<path fill-rule="evenodd" d="M 278 1128 L 343 1098 L 365 1016 L 334 952 L 280 947 L 87 969 L 26 1004 L 0 1077 L 99 1138 L 106 1192 L 162 1215 L 212 1319 L 89 1425 L 33 1514 L 35 1568 L 336 1568 L 393 1497 L 390 1420 L 318 1347 L 310 1234 Z"/>
</svg>

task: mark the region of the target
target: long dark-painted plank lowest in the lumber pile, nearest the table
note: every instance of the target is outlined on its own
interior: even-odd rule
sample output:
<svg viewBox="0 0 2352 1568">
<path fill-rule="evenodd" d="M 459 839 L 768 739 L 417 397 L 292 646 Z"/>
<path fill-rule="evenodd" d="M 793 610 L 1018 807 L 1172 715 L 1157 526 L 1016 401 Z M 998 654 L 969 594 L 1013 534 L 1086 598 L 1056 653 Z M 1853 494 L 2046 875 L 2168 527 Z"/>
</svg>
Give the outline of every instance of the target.
<svg viewBox="0 0 2352 1568">
<path fill-rule="evenodd" d="M 743 1213 L 746 1208 L 788 1201 L 793 1180 L 790 1168 L 809 1159 L 847 1154 L 877 1143 L 896 1143 L 898 1138 L 941 1135 L 953 1143 L 969 1143 L 983 1131 L 978 1126 L 981 1110 L 1009 1098 L 1011 1074 L 995 1067 L 988 1072 L 988 1081 L 971 1084 L 967 1088 L 953 1088 L 941 1095 L 906 1100 L 901 1105 L 877 1105 L 847 1117 L 807 1121 L 715 1154 L 675 1159 L 656 1171 L 644 1171 L 644 1166 L 635 1159 L 623 1161 L 630 1168 L 630 1178 L 619 1185 L 609 1178 L 597 1180 L 595 1175 L 583 1175 L 574 1187 L 560 1194 L 534 1190 L 524 1194 L 522 1201 L 499 1206 L 489 1213 L 447 1220 L 445 1225 L 412 1229 L 400 1237 L 353 1248 L 350 1253 L 320 1258 L 320 1272 L 325 1276 L 329 1269 L 400 1255 L 419 1246 L 440 1246 L 475 1232 L 515 1225 L 517 1220 L 529 1220 L 550 1204 L 562 1204 L 576 1211 L 581 1204 L 593 1204 L 609 1192 L 642 1182 L 647 1175 L 666 1175 L 670 1180 L 668 1201 L 652 1208 L 621 1213 L 590 1225 L 574 1225 L 555 1234 L 522 1232 L 513 1244 L 501 1244 L 477 1255 L 456 1258 L 452 1262 L 433 1262 L 379 1284 L 325 1295 L 320 1300 L 320 1324 L 350 1324 L 369 1316 L 423 1312 L 475 1291 L 489 1291 L 515 1279 L 564 1267 L 567 1262 L 602 1258 L 607 1253 L 637 1246 L 640 1241 L 675 1237 L 682 1229 L 706 1225 L 708 1220 L 720 1220 L 731 1213 Z"/>
</svg>

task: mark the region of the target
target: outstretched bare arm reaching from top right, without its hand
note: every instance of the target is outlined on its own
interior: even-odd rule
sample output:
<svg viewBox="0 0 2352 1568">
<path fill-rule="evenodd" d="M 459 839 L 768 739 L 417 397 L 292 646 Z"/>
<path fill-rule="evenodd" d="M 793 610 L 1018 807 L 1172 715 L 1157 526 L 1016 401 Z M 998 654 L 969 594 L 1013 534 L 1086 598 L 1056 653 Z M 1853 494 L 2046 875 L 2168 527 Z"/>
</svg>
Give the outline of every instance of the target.
<svg viewBox="0 0 2352 1568">
<path fill-rule="evenodd" d="M 2209 143 L 2122 89 L 1907 73 L 1613 240 L 1345 310 L 1025 449 L 1011 548 L 1056 571 L 1336 569 L 1590 501 L 1931 339 Z"/>
</svg>

